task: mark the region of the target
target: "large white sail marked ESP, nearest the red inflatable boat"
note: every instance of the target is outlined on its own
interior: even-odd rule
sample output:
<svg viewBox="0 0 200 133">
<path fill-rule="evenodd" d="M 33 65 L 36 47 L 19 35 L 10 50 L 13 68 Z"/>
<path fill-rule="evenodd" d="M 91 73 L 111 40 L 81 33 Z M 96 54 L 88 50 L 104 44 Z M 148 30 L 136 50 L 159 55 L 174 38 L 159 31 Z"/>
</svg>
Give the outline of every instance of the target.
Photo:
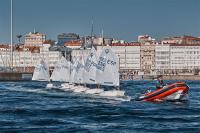
<svg viewBox="0 0 200 133">
<path fill-rule="evenodd" d="M 99 56 L 96 78 L 97 84 L 119 86 L 119 58 L 109 46 Z"/>
</svg>

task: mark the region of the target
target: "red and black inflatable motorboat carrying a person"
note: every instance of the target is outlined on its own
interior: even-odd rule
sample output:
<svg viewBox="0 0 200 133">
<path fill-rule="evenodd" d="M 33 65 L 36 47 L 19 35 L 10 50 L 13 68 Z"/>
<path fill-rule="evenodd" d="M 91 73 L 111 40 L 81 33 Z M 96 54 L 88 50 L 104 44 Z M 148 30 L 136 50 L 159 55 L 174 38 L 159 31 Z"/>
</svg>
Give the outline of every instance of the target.
<svg viewBox="0 0 200 133">
<path fill-rule="evenodd" d="M 148 92 L 137 98 L 138 101 L 178 101 L 187 100 L 189 87 L 185 82 L 176 82 L 159 90 Z"/>
</svg>

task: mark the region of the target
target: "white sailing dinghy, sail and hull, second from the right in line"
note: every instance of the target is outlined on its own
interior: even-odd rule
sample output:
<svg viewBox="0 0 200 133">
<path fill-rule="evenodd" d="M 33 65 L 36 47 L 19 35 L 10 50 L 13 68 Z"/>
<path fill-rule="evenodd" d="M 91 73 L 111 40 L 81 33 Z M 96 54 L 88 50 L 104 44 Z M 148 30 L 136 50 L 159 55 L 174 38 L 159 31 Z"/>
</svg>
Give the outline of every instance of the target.
<svg viewBox="0 0 200 133">
<path fill-rule="evenodd" d="M 97 54 L 94 47 L 92 47 L 89 55 L 87 56 L 86 62 L 85 62 L 85 71 L 83 75 L 84 83 L 92 85 L 96 84 L 96 65 L 97 65 Z M 85 91 L 86 94 L 99 94 L 103 92 L 103 89 L 95 88 L 95 89 L 88 89 Z"/>
</svg>

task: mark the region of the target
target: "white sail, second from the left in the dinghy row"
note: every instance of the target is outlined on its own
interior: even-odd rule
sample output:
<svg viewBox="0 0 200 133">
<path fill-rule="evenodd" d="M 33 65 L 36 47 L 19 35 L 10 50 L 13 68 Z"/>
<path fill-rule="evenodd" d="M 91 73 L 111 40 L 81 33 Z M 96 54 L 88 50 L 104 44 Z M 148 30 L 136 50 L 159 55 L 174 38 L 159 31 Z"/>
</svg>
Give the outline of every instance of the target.
<svg viewBox="0 0 200 133">
<path fill-rule="evenodd" d="M 53 81 L 69 82 L 69 78 L 70 62 L 68 62 L 65 57 L 62 57 L 55 65 L 50 79 Z"/>
</svg>

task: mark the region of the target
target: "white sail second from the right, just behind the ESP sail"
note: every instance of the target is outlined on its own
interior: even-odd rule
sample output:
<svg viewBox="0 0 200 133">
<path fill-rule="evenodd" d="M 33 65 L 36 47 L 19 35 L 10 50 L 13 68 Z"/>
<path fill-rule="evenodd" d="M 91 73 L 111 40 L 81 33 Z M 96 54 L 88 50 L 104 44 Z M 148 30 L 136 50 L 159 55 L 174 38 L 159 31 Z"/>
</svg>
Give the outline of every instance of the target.
<svg viewBox="0 0 200 133">
<path fill-rule="evenodd" d="M 96 64 L 97 54 L 94 47 L 92 47 L 84 66 L 83 81 L 86 84 L 96 84 Z"/>
</svg>

